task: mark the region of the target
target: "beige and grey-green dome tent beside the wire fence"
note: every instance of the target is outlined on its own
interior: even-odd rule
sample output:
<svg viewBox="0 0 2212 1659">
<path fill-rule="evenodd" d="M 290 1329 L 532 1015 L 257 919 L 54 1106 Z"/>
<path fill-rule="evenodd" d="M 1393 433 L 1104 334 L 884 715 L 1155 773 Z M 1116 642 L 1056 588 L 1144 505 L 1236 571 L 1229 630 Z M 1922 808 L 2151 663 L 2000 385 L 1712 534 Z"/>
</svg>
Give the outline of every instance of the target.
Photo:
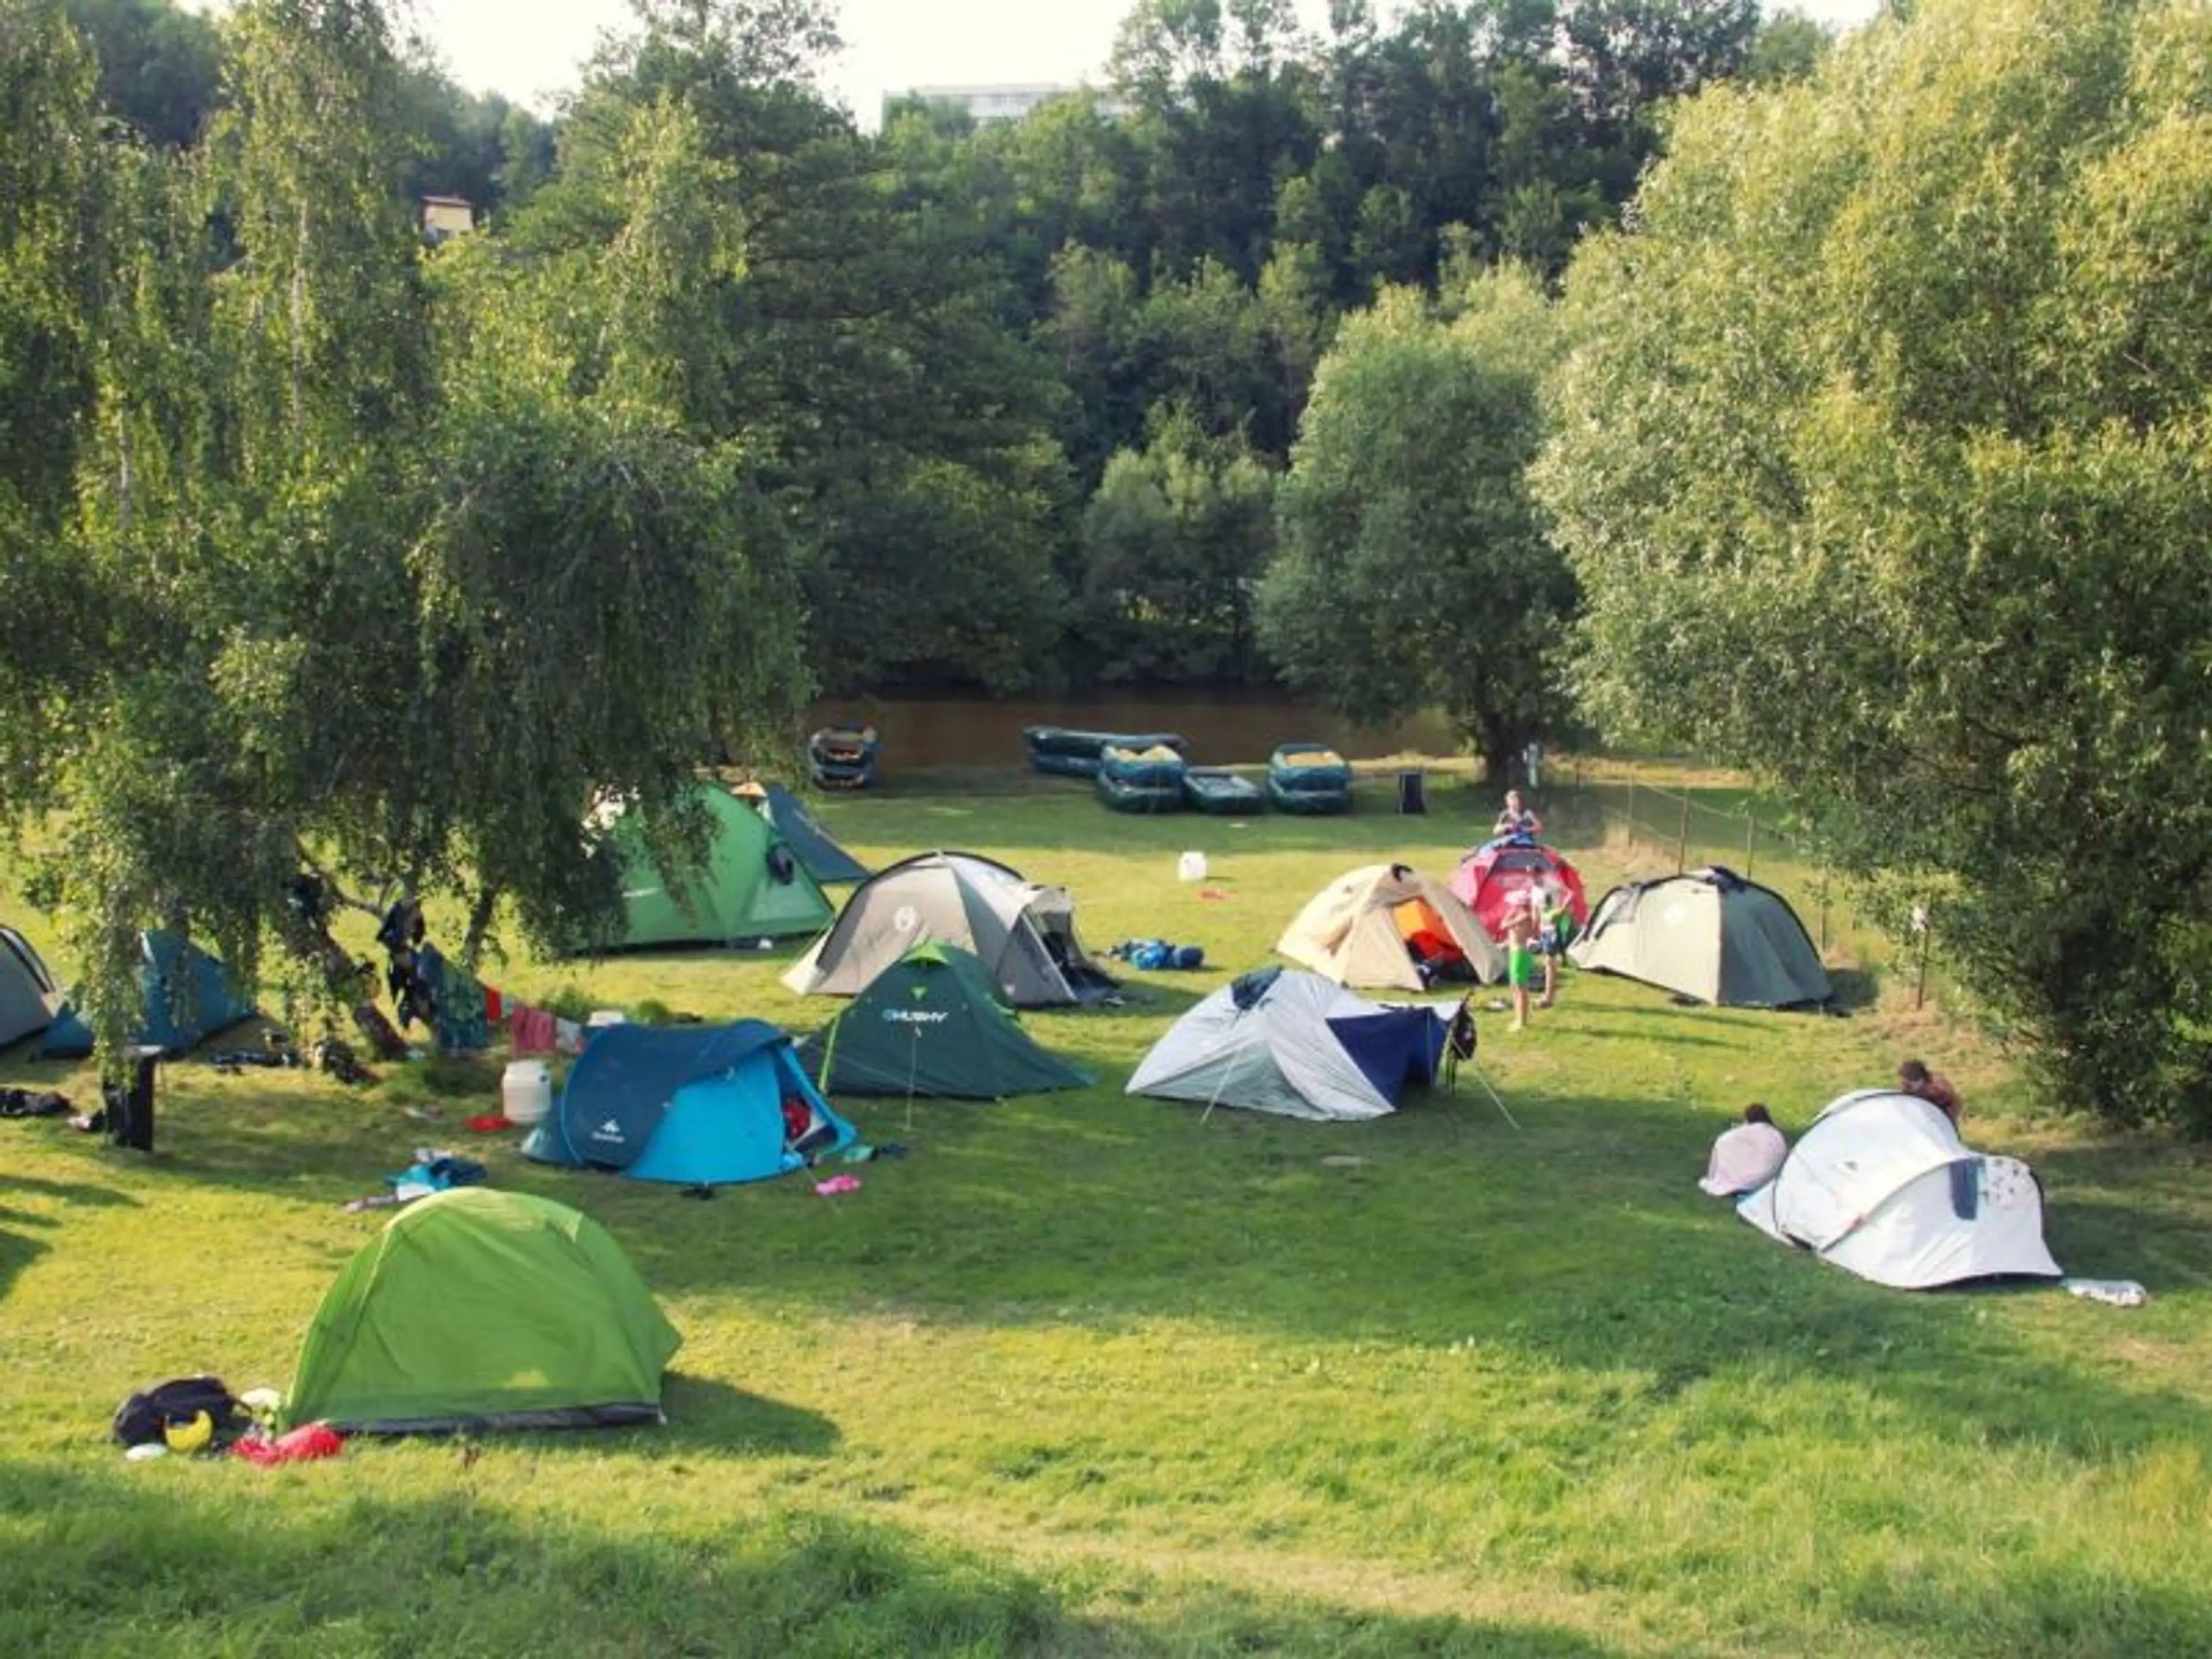
<svg viewBox="0 0 2212 1659">
<path fill-rule="evenodd" d="M 1790 900 L 1721 865 L 1615 887 L 1566 958 L 1723 1009 L 1787 1009 L 1834 995 Z"/>
</svg>

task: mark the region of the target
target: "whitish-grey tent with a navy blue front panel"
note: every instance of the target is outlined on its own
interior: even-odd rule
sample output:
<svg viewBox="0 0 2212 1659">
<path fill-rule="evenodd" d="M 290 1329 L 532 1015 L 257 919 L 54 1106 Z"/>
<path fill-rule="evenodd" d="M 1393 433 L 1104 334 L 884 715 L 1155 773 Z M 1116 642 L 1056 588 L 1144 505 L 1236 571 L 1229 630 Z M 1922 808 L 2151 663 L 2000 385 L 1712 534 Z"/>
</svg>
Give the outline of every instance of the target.
<svg viewBox="0 0 2212 1659">
<path fill-rule="evenodd" d="M 1436 1077 L 1451 1018 L 1385 1009 L 1318 973 L 1261 969 L 1168 1026 L 1130 1095 L 1349 1121 L 1387 1117 Z"/>
</svg>

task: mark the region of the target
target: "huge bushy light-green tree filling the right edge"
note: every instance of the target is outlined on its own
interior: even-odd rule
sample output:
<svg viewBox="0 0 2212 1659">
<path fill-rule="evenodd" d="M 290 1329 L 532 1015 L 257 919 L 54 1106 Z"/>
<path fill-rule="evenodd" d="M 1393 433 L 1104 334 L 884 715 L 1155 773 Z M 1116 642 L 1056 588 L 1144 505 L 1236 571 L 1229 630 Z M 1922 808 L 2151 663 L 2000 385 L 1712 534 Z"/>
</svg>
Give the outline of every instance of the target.
<svg viewBox="0 0 2212 1659">
<path fill-rule="evenodd" d="M 2212 20 L 1922 0 L 1577 257 L 1540 493 L 1615 732 L 1741 761 L 2053 1097 L 2212 1128 Z"/>
</svg>

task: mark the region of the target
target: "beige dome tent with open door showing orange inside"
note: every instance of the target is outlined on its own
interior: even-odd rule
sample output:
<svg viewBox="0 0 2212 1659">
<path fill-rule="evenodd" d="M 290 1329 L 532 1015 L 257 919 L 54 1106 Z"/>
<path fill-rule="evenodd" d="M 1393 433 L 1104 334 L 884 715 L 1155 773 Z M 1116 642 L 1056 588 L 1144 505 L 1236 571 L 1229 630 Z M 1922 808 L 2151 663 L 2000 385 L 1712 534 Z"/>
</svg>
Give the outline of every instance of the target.
<svg viewBox="0 0 2212 1659">
<path fill-rule="evenodd" d="M 1473 911 L 1444 883 L 1407 865 L 1363 865 L 1338 876 L 1274 949 L 1338 984 L 1405 991 L 1469 975 L 1495 984 L 1506 971 L 1504 951 Z"/>
</svg>

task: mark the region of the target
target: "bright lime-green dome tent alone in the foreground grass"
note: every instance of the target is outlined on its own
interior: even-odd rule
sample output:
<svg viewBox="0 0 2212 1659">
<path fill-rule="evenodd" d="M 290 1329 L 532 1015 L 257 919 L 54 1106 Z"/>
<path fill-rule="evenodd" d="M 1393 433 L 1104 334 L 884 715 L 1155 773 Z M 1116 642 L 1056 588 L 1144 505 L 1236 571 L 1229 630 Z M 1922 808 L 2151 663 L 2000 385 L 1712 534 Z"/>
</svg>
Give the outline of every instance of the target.
<svg viewBox="0 0 2212 1659">
<path fill-rule="evenodd" d="M 551 1199 L 416 1199 L 338 1272 L 285 1422 L 349 1433 L 661 1420 L 681 1345 L 622 1248 Z"/>
</svg>

